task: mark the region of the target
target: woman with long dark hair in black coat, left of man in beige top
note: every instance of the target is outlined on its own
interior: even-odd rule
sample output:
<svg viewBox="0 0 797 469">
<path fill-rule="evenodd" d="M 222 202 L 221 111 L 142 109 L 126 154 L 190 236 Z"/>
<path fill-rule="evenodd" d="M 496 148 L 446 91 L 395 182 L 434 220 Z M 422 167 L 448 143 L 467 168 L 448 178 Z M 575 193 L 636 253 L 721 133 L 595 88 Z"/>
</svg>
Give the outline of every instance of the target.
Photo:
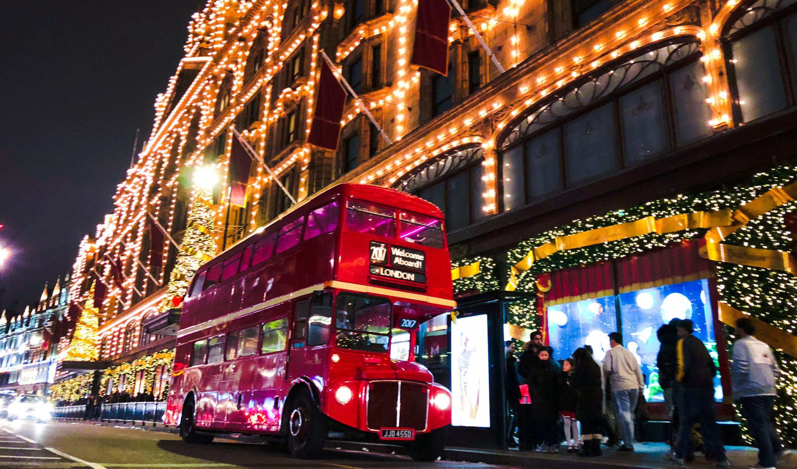
<svg viewBox="0 0 797 469">
<path fill-rule="evenodd" d="M 579 456 L 599 456 L 602 454 L 600 444 L 603 440 L 603 372 L 584 348 L 573 352 L 573 360 L 575 371 L 570 377 L 570 384 L 575 389 L 575 418 L 581 423 L 583 439 Z"/>
</svg>

